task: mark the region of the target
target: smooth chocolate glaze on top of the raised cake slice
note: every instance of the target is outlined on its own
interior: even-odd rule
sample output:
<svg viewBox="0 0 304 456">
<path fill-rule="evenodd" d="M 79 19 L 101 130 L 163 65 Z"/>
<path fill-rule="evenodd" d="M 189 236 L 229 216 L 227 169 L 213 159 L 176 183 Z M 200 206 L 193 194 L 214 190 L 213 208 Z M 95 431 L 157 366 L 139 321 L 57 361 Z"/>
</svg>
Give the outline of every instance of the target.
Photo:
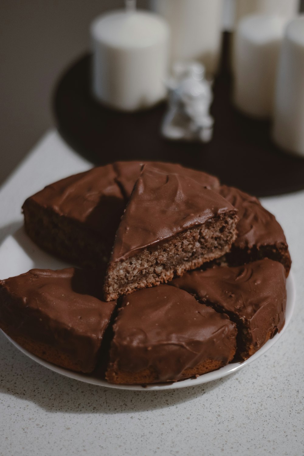
<svg viewBox="0 0 304 456">
<path fill-rule="evenodd" d="M 144 165 L 116 233 L 111 261 L 236 209 L 221 195 L 188 176 Z"/>
</svg>

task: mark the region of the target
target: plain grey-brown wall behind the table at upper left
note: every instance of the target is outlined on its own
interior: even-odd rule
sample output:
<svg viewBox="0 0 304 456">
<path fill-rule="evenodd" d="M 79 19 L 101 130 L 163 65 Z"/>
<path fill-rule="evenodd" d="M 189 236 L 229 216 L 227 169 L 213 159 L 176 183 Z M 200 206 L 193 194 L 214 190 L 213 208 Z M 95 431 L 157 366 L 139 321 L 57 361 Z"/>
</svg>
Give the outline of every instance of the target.
<svg viewBox="0 0 304 456">
<path fill-rule="evenodd" d="M 54 84 L 88 50 L 92 19 L 122 5 L 123 0 L 0 1 L 0 183 L 54 124 Z M 138 0 L 139 7 L 147 5 Z"/>
</svg>

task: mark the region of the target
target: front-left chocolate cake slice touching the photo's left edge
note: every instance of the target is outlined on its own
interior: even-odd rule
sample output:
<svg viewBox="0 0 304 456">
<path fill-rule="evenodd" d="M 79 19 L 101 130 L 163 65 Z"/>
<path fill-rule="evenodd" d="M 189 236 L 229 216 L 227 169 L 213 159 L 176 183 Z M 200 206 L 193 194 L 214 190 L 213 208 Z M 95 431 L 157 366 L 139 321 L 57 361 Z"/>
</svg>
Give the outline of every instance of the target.
<svg viewBox="0 0 304 456">
<path fill-rule="evenodd" d="M 31 269 L 0 280 L 0 328 L 29 352 L 92 372 L 115 302 L 100 300 L 97 277 L 80 269 Z"/>
</svg>

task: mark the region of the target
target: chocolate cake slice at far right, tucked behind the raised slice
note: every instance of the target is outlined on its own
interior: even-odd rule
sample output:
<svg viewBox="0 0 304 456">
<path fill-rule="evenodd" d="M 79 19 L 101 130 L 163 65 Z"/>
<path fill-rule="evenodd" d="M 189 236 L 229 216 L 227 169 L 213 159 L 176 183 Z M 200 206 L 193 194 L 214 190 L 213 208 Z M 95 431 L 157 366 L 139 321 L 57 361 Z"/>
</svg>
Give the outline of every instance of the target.
<svg viewBox="0 0 304 456">
<path fill-rule="evenodd" d="M 238 210 L 237 238 L 232 244 L 226 261 L 237 266 L 262 258 L 270 258 L 283 264 L 286 276 L 291 259 L 281 225 L 257 198 L 237 188 L 222 185 L 221 195 Z"/>
</svg>

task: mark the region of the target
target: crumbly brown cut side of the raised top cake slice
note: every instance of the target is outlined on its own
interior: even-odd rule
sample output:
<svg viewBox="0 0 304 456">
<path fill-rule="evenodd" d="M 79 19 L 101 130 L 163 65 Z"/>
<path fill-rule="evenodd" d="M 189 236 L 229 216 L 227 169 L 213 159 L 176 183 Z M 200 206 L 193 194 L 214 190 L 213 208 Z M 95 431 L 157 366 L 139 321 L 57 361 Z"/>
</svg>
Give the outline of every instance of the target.
<svg viewBox="0 0 304 456">
<path fill-rule="evenodd" d="M 236 224 L 235 212 L 220 215 L 204 225 L 152 245 L 133 257 L 110 263 L 103 287 L 104 299 L 112 301 L 120 295 L 166 283 L 175 276 L 222 257 L 231 249 L 236 237 Z M 227 233 L 226 238 L 223 233 Z"/>
</svg>

